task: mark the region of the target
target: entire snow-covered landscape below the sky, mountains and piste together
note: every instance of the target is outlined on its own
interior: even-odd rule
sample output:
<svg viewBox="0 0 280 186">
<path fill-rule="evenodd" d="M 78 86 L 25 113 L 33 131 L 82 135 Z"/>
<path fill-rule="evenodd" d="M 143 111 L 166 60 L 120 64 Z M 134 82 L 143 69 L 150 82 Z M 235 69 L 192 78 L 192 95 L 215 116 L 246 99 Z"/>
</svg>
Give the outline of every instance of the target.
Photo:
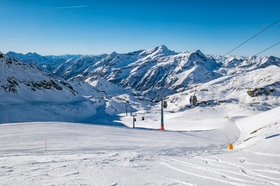
<svg viewBox="0 0 280 186">
<path fill-rule="evenodd" d="M 0 52 L 0 185 L 280 185 L 280 58 L 220 58 Z"/>
</svg>

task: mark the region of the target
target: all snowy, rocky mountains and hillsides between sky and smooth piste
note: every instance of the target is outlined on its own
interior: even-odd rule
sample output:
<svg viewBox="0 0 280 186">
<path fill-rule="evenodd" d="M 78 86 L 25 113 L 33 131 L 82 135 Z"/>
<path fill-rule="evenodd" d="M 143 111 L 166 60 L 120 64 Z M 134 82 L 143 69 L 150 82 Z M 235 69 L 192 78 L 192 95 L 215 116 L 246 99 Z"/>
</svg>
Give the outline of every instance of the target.
<svg viewBox="0 0 280 186">
<path fill-rule="evenodd" d="M 159 109 L 152 100 L 162 93 L 169 98 L 167 111 L 178 112 L 194 108 L 189 98 L 195 85 L 200 107 L 279 106 L 280 58 L 241 57 L 218 62 L 200 50 L 176 53 L 164 45 L 99 56 L 1 53 L 0 95 L 6 98 L 0 103 L 2 115 L 21 105 L 21 115 L 13 112 L 15 121 L 34 121 L 23 117 L 32 112 L 38 115 L 36 121 L 75 122 L 95 115 L 105 102 L 106 113 L 113 115 L 125 112 L 123 102 L 135 111 Z"/>
</svg>

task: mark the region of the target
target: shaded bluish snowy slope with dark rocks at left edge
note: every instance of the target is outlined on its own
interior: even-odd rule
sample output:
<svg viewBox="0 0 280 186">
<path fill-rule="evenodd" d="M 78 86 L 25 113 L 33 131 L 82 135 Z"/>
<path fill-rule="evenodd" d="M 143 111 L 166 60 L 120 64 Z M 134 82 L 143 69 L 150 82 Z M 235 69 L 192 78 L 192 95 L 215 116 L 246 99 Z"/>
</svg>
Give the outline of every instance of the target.
<svg viewBox="0 0 280 186">
<path fill-rule="evenodd" d="M 0 115 L 7 115 L 10 122 L 76 121 L 94 114 L 103 104 L 79 95 L 67 81 L 32 63 L 0 53 L 0 66 Z M 1 117 L 0 123 L 5 122 Z"/>
</svg>

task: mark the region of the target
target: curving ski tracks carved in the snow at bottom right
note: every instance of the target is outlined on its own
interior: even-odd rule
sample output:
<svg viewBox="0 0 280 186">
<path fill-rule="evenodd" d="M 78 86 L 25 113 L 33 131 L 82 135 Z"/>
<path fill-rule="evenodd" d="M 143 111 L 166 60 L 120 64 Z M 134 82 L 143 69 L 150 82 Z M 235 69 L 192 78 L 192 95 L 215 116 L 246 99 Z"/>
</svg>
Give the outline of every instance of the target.
<svg viewBox="0 0 280 186">
<path fill-rule="evenodd" d="M 242 151 L 237 151 L 237 153 L 242 153 Z M 251 153 L 254 154 L 253 152 Z M 216 154 L 214 156 L 212 152 L 208 155 L 207 153 L 204 155 L 193 153 L 184 155 L 159 155 L 155 153 L 154 157 L 158 163 L 169 169 L 176 170 L 177 174 L 178 172 L 184 173 L 183 176 L 179 173 L 182 176 L 180 180 L 176 181 L 176 178 L 174 178 L 174 181 L 184 185 L 194 185 L 197 183 L 199 183 L 197 185 L 201 185 L 200 182 L 203 181 L 207 181 L 209 184 L 209 180 L 211 180 L 210 185 L 280 185 L 280 179 L 278 178 L 280 165 L 273 164 L 274 167 L 268 169 L 270 164 L 249 163 L 247 160 L 240 160 L 242 157 L 233 155 L 229 155 L 231 156 L 230 160 L 232 162 L 223 161 L 221 160 L 223 158 L 220 157 L 221 155 L 225 154 Z M 229 156 L 227 156 L 227 160 Z M 186 179 L 190 179 L 189 177 L 185 178 L 185 175 L 191 176 L 193 180 L 185 182 Z M 202 178 L 203 181 L 198 181 L 197 178 Z"/>
</svg>

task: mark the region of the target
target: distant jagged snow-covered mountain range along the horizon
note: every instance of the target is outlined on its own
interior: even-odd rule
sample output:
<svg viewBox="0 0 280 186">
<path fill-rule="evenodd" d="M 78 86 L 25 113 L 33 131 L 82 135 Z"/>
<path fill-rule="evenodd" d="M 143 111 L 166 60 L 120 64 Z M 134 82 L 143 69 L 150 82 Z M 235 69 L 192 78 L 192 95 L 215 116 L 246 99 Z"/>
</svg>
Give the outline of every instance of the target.
<svg viewBox="0 0 280 186">
<path fill-rule="evenodd" d="M 123 88 L 135 88 L 139 91 L 164 87 L 181 92 L 197 83 L 206 83 L 232 73 L 262 68 L 266 60 L 269 61 L 267 65 L 279 63 L 279 58 L 273 56 L 269 58 L 235 56 L 234 58 L 230 55 L 225 56 L 224 62 L 216 62 L 214 58 L 220 56 L 205 56 L 199 50 L 176 53 L 164 45 L 125 54 L 113 52 L 99 56 L 51 57 L 31 54 L 7 53 L 11 58 L 20 57 L 27 63 L 37 60 L 50 72 L 65 80 L 82 77 L 90 82 L 98 76 Z M 258 64 L 260 61 L 263 64 Z M 262 67 L 259 67 L 260 65 Z"/>
</svg>

